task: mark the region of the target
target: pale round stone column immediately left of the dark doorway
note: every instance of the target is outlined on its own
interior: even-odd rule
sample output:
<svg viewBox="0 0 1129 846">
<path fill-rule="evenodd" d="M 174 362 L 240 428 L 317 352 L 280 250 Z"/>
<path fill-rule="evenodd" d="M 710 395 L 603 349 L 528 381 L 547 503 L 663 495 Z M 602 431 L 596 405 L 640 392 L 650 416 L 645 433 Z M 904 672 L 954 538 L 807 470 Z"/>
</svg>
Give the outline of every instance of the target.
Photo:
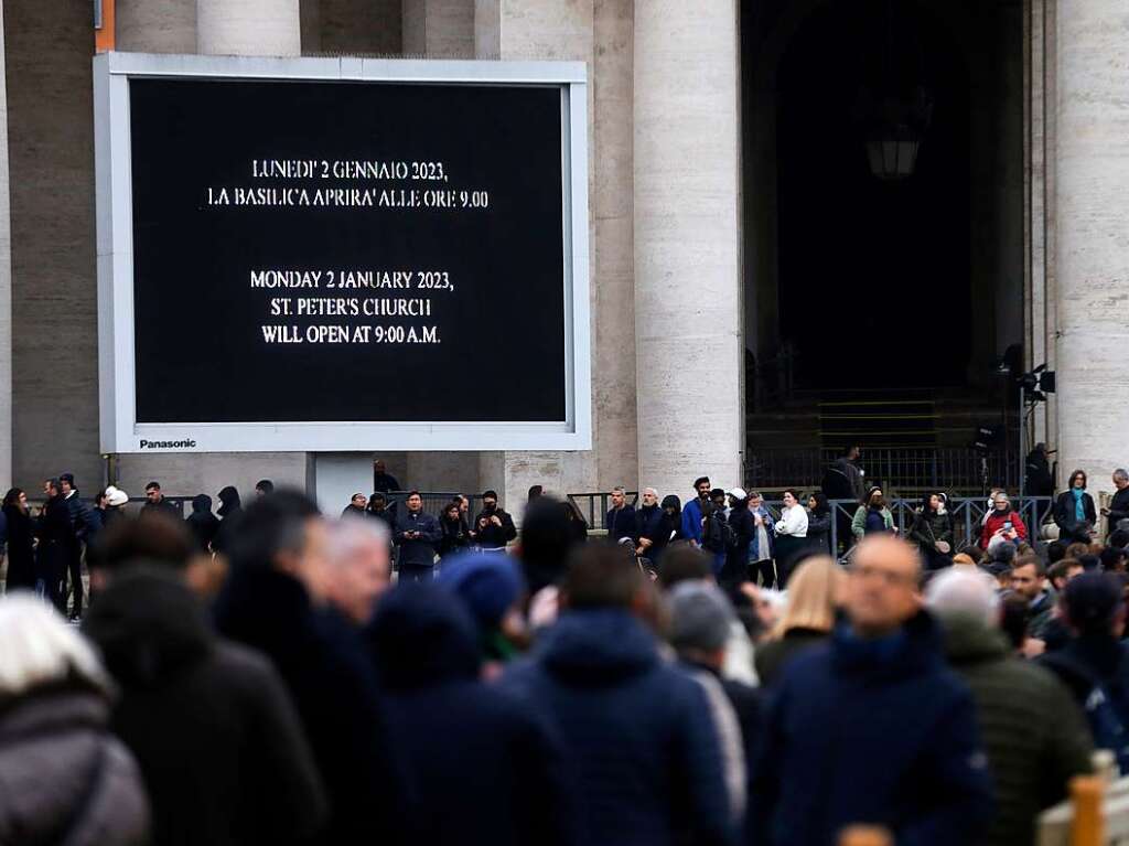
<svg viewBox="0 0 1129 846">
<path fill-rule="evenodd" d="M 639 481 L 743 481 L 736 0 L 634 3 Z"/>
</svg>

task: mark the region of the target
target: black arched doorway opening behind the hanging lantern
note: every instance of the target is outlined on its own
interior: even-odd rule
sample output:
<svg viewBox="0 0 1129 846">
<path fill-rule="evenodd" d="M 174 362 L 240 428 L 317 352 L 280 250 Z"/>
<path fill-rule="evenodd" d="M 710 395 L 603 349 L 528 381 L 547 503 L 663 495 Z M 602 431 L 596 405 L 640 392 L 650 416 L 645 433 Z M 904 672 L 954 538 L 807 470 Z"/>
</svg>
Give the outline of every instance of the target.
<svg viewBox="0 0 1129 846">
<path fill-rule="evenodd" d="M 890 8 L 823 7 L 777 76 L 780 330 L 803 387 L 966 382 L 969 75 L 927 11 L 903 0 Z M 860 94 L 917 86 L 934 102 L 917 171 L 881 181 L 867 164 Z"/>
</svg>

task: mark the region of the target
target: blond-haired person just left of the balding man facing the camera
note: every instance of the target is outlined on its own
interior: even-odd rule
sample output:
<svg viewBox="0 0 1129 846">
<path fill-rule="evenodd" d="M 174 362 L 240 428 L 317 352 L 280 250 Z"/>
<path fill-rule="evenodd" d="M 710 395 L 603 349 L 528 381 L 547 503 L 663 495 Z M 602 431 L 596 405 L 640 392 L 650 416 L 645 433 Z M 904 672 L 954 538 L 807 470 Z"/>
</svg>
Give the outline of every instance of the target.
<svg viewBox="0 0 1129 846">
<path fill-rule="evenodd" d="M 797 655 L 831 637 L 843 578 L 842 569 L 826 556 L 813 556 L 796 568 L 788 585 L 788 605 L 756 647 L 761 684 L 774 684 Z"/>
</svg>

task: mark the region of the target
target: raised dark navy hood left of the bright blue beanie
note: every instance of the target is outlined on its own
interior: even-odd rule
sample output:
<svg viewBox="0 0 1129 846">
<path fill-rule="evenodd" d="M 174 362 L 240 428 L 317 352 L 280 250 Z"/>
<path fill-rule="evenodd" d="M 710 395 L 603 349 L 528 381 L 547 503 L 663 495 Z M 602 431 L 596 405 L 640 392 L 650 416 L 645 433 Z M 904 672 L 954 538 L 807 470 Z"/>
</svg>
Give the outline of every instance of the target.
<svg viewBox="0 0 1129 846">
<path fill-rule="evenodd" d="M 385 690 L 417 690 L 476 679 L 478 628 L 453 594 L 434 585 L 397 584 L 365 631 Z"/>
</svg>

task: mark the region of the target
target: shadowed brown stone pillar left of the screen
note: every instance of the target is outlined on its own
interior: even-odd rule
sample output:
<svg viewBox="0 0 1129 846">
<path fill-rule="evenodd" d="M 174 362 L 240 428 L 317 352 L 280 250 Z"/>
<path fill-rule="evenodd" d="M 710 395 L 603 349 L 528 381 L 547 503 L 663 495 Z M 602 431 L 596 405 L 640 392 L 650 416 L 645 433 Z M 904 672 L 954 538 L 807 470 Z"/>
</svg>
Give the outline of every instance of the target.
<svg viewBox="0 0 1129 846">
<path fill-rule="evenodd" d="M 14 482 L 70 471 L 87 492 L 103 474 L 90 7 L 3 0 L 3 17 Z"/>
</svg>

